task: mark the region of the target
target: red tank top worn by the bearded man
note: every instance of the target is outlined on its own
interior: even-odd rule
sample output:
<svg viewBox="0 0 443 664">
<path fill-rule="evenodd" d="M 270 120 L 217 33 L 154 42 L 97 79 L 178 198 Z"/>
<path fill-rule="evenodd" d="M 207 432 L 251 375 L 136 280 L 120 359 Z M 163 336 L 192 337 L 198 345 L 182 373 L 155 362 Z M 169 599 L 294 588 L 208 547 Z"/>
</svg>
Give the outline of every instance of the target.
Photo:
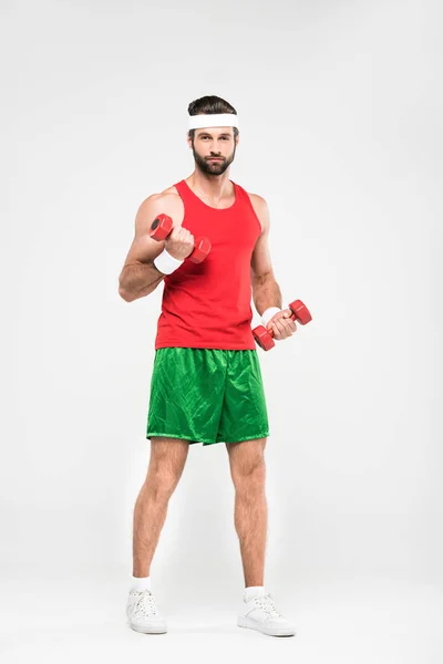
<svg viewBox="0 0 443 664">
<path fill-rule="evenodd" d="M 174 185 L 185 207 L 182 226 L 194 237 L 206 236 L 212 249 L 203 262 L 185 260 L 165 277 L 156 350 L 256 349 L 250 260 L 261 225 L 247 191 L 233 185 L 235 201 L 224 209 L 203 203 L 185 180 Z"/>
</svg>

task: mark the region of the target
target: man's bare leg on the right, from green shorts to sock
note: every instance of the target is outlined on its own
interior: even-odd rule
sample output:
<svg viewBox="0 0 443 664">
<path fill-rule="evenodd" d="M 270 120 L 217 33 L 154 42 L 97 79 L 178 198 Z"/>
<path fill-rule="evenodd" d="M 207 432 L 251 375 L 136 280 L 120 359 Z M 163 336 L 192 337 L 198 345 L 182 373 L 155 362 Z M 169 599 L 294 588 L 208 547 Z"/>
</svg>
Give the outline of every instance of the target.
<svg viewBox="0 0 443 664">
<path fill-rule="evenodd" d="M 240 543 L 245 588 L 264 585 L 267 533 L 266 438 L 226 443 L 235 487 L 234 521 Z"/>
</svg>

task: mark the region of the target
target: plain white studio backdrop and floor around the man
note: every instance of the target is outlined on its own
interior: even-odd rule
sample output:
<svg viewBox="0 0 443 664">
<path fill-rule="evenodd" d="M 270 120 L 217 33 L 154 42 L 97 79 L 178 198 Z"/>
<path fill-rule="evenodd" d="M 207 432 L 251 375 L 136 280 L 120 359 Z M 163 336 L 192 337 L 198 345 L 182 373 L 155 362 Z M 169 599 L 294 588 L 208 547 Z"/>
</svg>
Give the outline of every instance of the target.
<svg viewBox="0 0 443 664">
<path fill-rule="evenodd" d="M 163 286 L 128 304 L 117 278 L 142 200 L 194 168 L 187 105 L 206 94 L 238 112 L 230 177 L 268 201 L 284 303 L 300 298 L 313 317 L 259 350 L 265 584 L 299 634 L 277 646 L 235 626 L 244 583 L 224 444 L 189 449 L 154 592 L 166 616 L 206 608 L 182 634 L 178 620 L 177 640 L 202 643 L 198 625 L 225 608 L 226 631 L 205 634 L 218 654 L 247 642 L 302 663 L 441 661 L 441 4 L 0 7 L 8 662 L 95 657 L 63 650 L 62 633 L 78 649 L 103 635 L 109 661 L 148 653 L 124 605 Z"/>
</svg>

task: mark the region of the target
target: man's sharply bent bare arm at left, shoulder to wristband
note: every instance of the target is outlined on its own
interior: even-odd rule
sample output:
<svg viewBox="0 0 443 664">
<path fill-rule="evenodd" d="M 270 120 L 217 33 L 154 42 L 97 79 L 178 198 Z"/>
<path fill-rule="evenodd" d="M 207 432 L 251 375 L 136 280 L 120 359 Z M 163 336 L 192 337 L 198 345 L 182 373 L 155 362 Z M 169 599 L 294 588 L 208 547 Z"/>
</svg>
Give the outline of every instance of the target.
<svg viewBox="0 0 443 664">
<path fill-rule="evenodd" d="M 164 241 L 150 237 L 152 222 L 161 211 L 162 195 L 146 198 L 135 217 L 135 236 L 119 277 L 119 294 L 126 302 L 148 295 L 164 279 L 165 274 L 154 266 L 154 259 L 162 253 Z"/>
</svg>

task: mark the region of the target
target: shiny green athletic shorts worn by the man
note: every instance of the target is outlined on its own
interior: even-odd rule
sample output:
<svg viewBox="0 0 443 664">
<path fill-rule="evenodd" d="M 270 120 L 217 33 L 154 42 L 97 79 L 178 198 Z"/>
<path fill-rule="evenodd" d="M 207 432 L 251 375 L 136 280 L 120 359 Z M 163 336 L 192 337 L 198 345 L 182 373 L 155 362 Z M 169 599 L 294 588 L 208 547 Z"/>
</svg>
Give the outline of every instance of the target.
<svg viewBox="0 0 443 664">
<path fill-rule="evenodd" d="M 155 352 L 146 438 L 213 445 L 268 435 L 257 351 L 166 347 Z"/>
</svg>

